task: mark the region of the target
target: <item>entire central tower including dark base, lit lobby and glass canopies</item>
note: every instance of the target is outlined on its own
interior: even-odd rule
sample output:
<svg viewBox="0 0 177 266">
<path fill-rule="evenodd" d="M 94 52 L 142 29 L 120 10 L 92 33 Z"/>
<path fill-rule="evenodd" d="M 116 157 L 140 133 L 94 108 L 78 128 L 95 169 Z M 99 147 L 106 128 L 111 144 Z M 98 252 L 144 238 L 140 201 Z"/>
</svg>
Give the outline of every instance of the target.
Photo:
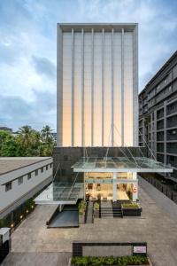
<svg viewBox="0 0 177 266">
<path fill-rule="evenodd" d="M 138 173 L 173 171 L 137 146 L 137 24 L 58 24 L 57 135 L 37 204 L 108 200 L 113 215 L 112 201 L 138 200 Z"/>
</svg>

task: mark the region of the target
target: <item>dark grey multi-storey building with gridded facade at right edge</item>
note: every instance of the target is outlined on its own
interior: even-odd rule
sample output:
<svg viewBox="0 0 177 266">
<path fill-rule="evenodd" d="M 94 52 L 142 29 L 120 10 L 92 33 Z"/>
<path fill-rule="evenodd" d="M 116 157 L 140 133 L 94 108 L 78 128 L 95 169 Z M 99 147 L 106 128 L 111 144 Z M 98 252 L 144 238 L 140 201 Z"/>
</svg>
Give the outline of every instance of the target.
<svg viewBox="0 0 177 266">
<path fill-rule="evenodd" d="M 171 164 L 168 178 L 177 182 L 177 51 L 139 95 L 139 130 L 139 145 L 147 143 L 158 161 Z"/>
</svg>

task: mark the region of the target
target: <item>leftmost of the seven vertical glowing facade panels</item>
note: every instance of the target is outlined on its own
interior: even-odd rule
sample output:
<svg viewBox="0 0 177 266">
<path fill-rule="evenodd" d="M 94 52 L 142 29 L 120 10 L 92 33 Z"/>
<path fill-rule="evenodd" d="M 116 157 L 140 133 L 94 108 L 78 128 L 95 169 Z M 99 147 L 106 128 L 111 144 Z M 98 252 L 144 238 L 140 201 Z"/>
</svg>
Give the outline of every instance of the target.
<svg viewBox="0 0 177 266">
<path fill-rule="evenodd" d="M 72 139 L 72 34 L 63 34 L 63 145 Z"/>
</svg>

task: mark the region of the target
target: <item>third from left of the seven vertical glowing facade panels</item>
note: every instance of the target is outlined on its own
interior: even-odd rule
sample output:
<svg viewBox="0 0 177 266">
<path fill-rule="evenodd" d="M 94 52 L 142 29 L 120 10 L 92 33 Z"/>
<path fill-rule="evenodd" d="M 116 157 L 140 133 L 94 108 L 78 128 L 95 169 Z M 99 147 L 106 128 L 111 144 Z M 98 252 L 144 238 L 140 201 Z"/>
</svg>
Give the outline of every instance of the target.
<svg viewBox="0 0 177 266">
<path fill-rule="evenodd" d="M 84 142 L 91 145 L 91 63 L 92 35 L 84 34 Z"/>
</svg>

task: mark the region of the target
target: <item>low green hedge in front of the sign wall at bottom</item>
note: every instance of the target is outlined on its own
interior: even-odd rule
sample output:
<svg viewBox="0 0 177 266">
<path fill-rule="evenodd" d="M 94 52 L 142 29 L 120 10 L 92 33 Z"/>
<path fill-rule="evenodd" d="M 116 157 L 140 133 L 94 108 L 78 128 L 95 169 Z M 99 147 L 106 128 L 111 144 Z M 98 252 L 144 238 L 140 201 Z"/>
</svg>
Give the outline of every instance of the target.
<svg viewBox="0 0 177 266">
<path fill-rule="evenodd" d="M 122 256 L 122 257 L 73 257 L 75 266 L 101 266 L 101 265 L 150 265 L 146 256 Z"/>
</svg>

